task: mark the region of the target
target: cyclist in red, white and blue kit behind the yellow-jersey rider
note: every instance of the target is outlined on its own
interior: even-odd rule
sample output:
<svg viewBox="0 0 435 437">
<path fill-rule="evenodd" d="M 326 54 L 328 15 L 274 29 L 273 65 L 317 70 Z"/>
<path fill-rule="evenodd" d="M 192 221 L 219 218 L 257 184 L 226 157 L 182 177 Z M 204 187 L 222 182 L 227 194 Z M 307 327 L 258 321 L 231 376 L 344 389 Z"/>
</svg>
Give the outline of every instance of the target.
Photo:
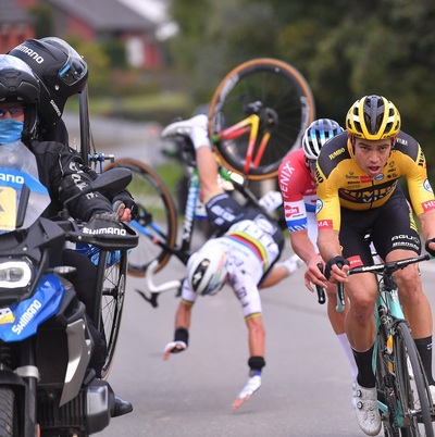
<svg viewBox="0 0 435 437">
<path fill-rule="evenodd" d="M 278 183 L 283 195 L 285 220 L 290 232 L 293 250 L 307 264 L 304 273 L 306 286 L 310 291 L 313 291 L 311 284 L 326 289 L 327 315 L 350 363 L 352 380 L 355 380 L 358 370 L 345 330 L 345 316 L 348 305 L 344 312 L 336 311 L 336 286 L 327 282 L 318 266 L 321 265 L 323 271 L 325 263 L 319 253 L 316 245 L 315 202 L 318 195 L 314 167 L 322 146 L 341 132 L 343 128 L 339 124 L 330 118 L 319 118 L 311 123 L 304 132 L 302 148 L 289 153 L 281 163 Z"/>
</svg>

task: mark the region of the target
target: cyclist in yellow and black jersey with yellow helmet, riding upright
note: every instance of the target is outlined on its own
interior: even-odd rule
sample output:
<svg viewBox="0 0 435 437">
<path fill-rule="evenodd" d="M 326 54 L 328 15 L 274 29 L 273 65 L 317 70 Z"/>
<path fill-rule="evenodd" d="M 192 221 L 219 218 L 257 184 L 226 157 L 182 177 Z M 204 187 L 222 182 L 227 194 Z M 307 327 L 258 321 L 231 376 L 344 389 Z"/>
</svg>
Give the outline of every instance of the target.
<svg viewBox="0 0 435 437">
<path fill-rule="evenodd" d="M 358 365 L 353 404 L 361 429 L 374 436 L 381 430 L 372 371 L 377 284 L 370 273 L 347 277 L 346 272 L 350 266 L 373 263 L 368 234 L 378 255 L 387 262 L 421 252 L 412 211 L 399 186 L 400 177 L 407 180 L 426 249 L 435 253 L 435 198 L 423 151 L 414 138 L 400 130 L 400 114 L 390 101 L 381 96 L 356 101 L 347 114 L 346 129 L 322 148 L 316 163 L 318 244 L 326 261 L 325 276 L 333 283 L 346 283 L 350 299 L 346 333 Z M 398 271 L 396 278 L 435 398 L 432 311 L 418 266 Z"/>
</svg>

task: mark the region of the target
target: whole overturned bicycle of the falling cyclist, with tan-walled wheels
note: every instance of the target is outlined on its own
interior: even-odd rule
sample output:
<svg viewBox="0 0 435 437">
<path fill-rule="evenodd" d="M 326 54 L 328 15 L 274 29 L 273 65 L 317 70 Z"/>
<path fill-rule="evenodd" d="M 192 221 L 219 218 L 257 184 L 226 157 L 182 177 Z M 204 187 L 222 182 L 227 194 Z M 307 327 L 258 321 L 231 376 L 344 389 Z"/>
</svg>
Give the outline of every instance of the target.
<svg viewBox="0 0 435 437">
<path fill-rule="evenodd" d="M 275 177 L 282 159 L 300 147 L 303 132 L 314 117 L 311 89 L 295 67 L 268 58 L 238 65 L 221 82 L 210 103 L 209 136 L 220 163 L 220 177 L 246 202 L 258 204 L 249 182 Z M 176 279 L 158 286 L 153 275 L 173 255 L 187 263 L 191 252 L 199 182 L 192 147 L 185 138 L 179 141 L 189 174 L 181 242 L 176 205 L 159 174 L 132 159 L 108 165 L 133 173 L 128 189 L 139 208 L 138 217 L 132 222 L 139 245 L 129 255 L 128 273 L 146 277 L 150 296 L 138 291 L 153 307 L 160 292 L 181 286 Z"/>
</svg>

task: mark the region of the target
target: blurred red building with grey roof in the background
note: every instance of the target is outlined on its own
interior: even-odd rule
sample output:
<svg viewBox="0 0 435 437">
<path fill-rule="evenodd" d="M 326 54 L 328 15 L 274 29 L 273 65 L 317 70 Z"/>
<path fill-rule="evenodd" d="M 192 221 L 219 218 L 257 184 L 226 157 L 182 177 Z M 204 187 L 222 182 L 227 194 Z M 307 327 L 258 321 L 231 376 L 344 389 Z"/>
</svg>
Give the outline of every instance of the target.
<svg viewBox="0 0 435 437">
<path fill-rule="evenodd" d="M 36 4 L 47 5 L 51 11 L 54 32 L 45 36 L 74 35 L 98 42 L 121 40 L 130 65 L 153 68 L 162 63 L 157 24 L 117 0 L 0 0 L 2 53 L 35 37 L 29 10 Z"/>
</svg>

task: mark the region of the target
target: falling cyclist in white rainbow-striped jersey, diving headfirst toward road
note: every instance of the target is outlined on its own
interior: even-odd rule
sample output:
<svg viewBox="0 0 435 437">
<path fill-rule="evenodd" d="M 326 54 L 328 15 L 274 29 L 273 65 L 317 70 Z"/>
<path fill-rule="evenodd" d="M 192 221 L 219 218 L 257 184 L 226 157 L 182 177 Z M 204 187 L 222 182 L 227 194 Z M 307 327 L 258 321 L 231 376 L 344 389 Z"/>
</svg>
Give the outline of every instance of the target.
<svg viewBox="0 0 435 437">
<path fill-rule="evenodd" d="M 190 120 L 170 124 L 163 137 L 186 136 L 196 150 L 200 178 L 200 199 L 208 217 L 222 236 L 208 240 L 192 253 L 187 263 L 187 278 L 183 283 L 182 298 L 175 315 L 174 340 L 163 352 L 187 349 L 191 309 L 198 296 L 216 294 L 228 284 L 240 301 L 249 332 L 249 378 L 233 402 L 237 410 L 261 386 L 265 365 L 265 334 L 259 287 L 269 287 L 297 270 L 290 259 L 276 263 L 284 248 L 283 233 L 275 221 L 258 208 L 241 207 L 217 183 L 217 163 L 207 134 L 208 118 L 197 115 Z"/>
</svg>

